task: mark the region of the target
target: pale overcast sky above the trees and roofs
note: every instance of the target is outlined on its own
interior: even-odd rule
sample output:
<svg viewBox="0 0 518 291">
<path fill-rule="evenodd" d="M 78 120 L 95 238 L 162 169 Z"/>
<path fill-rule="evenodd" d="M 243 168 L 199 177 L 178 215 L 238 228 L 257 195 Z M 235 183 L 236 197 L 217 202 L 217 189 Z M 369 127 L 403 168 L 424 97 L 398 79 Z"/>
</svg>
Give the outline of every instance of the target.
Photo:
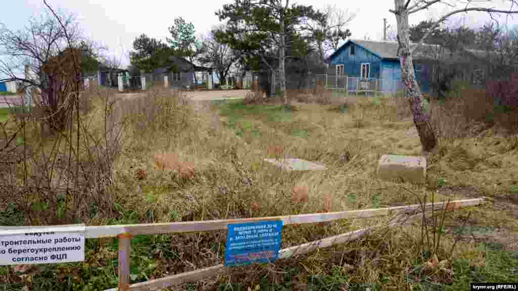
<svg viewBox="0 0 518 291">
<path fill-rule="evenodd" d="M 3 2 L 0 22 L 10 30 L 23 28 L 28 19 L 38 18 L 44 11 L 42 0 Z M 128 52 L 131 50 L 132 41 L 138 35 L 146 33 L 151 37 L 165 40 L 168 36 L 167 27 L 180 16 L 192 22 L 197 33 L 205 34 L 213 25 L 219 23 L 214 12 L 229 2 L 232 0 L 48 0 L 56 10 L 73 13 L 80 22 L 84 34 L 108 47 L 110 55 L 120 57 L 124 65 L 129 63 Z M 394 8 L 393 0 L 298 0 L 295 2 L 313 5 L 318 9 L 336 4 L 341 9 L 355 13 L 356 17 L 348 26 L 352 32 L 352 38 L 363 39 L 368 36 L 372 40 L 381 40 L 383 18 L 386 18 L 393 27 L 396 26 L 395 16 L 389 12 L 389 9 Z M 509 9 L 509 5 L 503 0 L 495 0 L 493 6 Z M 412 14 L 410 24 L 438 18 L 444 11 L 450 9 L 452 8 L 442 4 L 434 5 L 432 10 Z M 452 22 L 476 26 L 488 20 L 490 18 L 486 13 L 473 12 L 468 16 L 457 17 Z M 500 17 L 500 20 L 503 23 L 506 17 Z M 508 24 L 518 24 L 518 16 L 514 19 L 509 18 Z"/>
</svg>

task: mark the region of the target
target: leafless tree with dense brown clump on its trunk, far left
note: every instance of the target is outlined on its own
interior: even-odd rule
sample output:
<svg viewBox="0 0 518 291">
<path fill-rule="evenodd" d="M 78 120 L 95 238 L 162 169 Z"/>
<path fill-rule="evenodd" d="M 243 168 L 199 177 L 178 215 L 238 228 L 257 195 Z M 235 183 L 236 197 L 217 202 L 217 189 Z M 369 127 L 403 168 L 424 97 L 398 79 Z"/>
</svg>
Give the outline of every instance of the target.
<svg viewBox="0 0 518 291">
<path fill-rule="evenodd" d="M 52 130 L 62 131 L 77 99 L 82 70 L 96 66 L 95 51 L 71 15 L 57 18 L 46 13 L 40 20 L 30 20 L 25 30 L 0 31 L 0 72 L 7 76 L 0 81 L 35 88 L 35 105 Z"/>
</svg>

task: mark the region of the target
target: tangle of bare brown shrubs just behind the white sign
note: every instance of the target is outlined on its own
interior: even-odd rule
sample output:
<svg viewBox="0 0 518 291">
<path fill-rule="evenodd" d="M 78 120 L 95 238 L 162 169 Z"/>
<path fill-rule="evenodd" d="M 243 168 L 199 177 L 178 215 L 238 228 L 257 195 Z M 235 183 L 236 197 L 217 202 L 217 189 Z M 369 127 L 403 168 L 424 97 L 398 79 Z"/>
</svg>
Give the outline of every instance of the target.
<svg viewBox="0 0 518 291">
<path fill-rule="evenodd" d="M 21 123 L 3 128 L 7 151 L 0 152 L 0 200 L 11 201 L 33 225 L 88 222 L 102 212 L 109 215 L 112 165 L 122 148 L 124 121 L 109 100 L 110 92 L 81 96 L 97 103 L 79 117 L 79 127 L 42 136 L 41 121 L 21 115 Z M 17 143 L 8 142 L 18 140 Z"/>
</svg>

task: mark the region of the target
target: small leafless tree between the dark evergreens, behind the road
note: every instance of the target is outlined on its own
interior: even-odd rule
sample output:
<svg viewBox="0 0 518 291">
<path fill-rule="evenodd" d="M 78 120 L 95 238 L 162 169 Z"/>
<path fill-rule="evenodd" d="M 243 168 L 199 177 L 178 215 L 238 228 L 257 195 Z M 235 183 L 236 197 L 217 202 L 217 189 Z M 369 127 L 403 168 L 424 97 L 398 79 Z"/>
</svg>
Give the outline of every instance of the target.
<svg viewBox="0 0 518 291">
<path fill-rule="evenodd" d="M 230 45 L 216 40 L 215 34 L 218 31 L 225 31 L 225 26 L 214 27 L 209 35 L 203 38 L 205 51 L 200 56 L 199 61 L 202 64 L 210 64 L 216 70 L 220 83 L 223 84 L 238 56 Z"/>
</svg>

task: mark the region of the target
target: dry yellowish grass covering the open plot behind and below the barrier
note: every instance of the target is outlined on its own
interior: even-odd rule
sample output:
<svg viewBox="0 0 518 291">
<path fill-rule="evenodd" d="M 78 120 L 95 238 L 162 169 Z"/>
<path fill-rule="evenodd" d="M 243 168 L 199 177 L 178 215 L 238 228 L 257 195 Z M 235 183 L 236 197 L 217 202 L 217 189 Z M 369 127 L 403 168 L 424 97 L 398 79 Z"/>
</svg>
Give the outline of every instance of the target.
<svg viewBox="0 0 518 291">
<path fill-rule="evenodd" d="M 332 97 L 334 101 L 328 101 Z M 496 129 L 484 135 L 441 138 L 439 149 L 430 157 L 426 185 L 386 182 L 376 176 L 382 154 L 421 153 L 411 115 L 405 110 L 406 102 L 397 96 L 329 95 L 327 99 L 303 103 L 294 98 L 296 110 L 268 102 L 229 101 L 213 108 L 219 110 L 219 116 L 207 106 L 194 107 L 179 92 L 156 89 L 140 99 L 120 100 L 121 118 L 129 123 L 124 129 L 122 154 L 113 165 L 110 193 L 116 211 L 111 216 L 94 215 L 90 224 L 379 208 L 418 203 L 418 197 L 435 193 L 436 200 L 494 197 L 495 203 L 473 210 L 468 226 L 498 225 L 510 233 L 518 231 L 518 217 L 513 214 L 516 208 L 510 203 L 516 202 L 510 193 L 518 181 L 515 139 L 501 136 Z M 439 109 L 439 105 L 434 106 Z M 328 170 L 286 172 L 263 161 L 265 157 L 281 156 L 320 162 Z M 418 193 L 418 197 L 412 193 Z M 471 267 L 486 274 L 496 264 L 490 259 L 492 253 L 479 243 L 487 242 L 487 238 L 463 235 L 454 252 L 449 253 L 457 237 L 452 229 L 462 225 L 466 215 L 467 211 L 447 215 L 448 227 L 437 252 L 439 260 L 447 260 L 442 269 L 425 268 L 429 254 L 420 245 L 421 228 L 416 221 L 408 228 L 376 231 L 363 240 L 279 260 L 275 265 L 232 268 L 218 278 L 189 287 L 405 290 L 449 284 L 466 288 L 462 275 L 470 274 L 452 274 L 452 270 L 461 272 Z M 286 226 L 282 248 L 384 220 Z M 134 241 L 132 246 L 139 257 L 155 265 L 147 269 L 151 263 L 136 258 L 141 263 L 135 264 L 141 267 L 135 268 L 141 268 L 138 271 L 149 278 L 212 266 L 222 259 L 224 241 L 223 231 L 148 236 Z M 511 244 L 504 245 L 508 248 Z M 109 243 L 98 244 L 87 256 L 87 263 L 110 266 L 109 261 L 93 259 L 94 254 L 110 248 Z M 497 277 L 500 281 L 510 278 Z M 144 280 L 141 275 L 135 279 Z M 113 287 L 107 281 L 103 284 Z M 99 285 L 102 284 L 95 287 Z"/>
</svg>

